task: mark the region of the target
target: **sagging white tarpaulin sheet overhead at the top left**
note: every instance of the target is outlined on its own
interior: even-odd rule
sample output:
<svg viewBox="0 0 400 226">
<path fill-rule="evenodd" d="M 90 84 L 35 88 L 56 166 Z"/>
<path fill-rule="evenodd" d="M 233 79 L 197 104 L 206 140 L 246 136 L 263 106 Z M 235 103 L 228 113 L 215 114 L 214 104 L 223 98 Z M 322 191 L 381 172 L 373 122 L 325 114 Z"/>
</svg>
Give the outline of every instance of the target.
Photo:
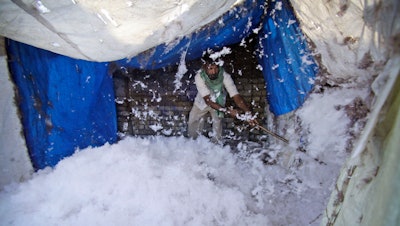
<svg viewBox="0 0 400 226">
<path fill-rule="evenodd" d="M 0 0 L 0 35 L 77 59 L 114 61 L 190 34 L 241 0 Z"/>
</svg>

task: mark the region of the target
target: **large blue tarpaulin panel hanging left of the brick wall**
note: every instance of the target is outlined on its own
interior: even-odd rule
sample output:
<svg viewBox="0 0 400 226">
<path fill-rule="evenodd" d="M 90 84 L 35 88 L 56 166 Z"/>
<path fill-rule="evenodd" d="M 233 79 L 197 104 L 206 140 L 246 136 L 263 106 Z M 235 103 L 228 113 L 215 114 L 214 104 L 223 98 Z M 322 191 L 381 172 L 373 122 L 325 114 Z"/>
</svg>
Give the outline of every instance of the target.
<svg viewBox="0 0 400 226">
<path fill-rule="evenodd" d="M 33 167 L 55 166 L 76 149 L 117 139 L 106 63 L 75 60 L 6 40 Z"/>
</svg>

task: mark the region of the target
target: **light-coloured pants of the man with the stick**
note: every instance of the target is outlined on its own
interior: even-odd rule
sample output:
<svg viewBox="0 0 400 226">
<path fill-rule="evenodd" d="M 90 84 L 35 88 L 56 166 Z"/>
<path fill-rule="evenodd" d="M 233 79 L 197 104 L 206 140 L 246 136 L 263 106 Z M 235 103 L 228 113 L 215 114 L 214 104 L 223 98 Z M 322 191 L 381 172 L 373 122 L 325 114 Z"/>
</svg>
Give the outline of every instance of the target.
<svg viewBox="0 0 400 226">
<path fill-rule="evenodd" d="M 205 115 L 207 113 L 211 114 L 212 118 L 212 128 L 213 128 L 213 139 L 219 141 L 222 137 L 222 122 L 221 118 L 218 117 L 217 111 L 207 106 L 204 110 L 200 110 L 195 104 L 189 113 L 188 121 L 188 135 L 193 139 L 196 139 L 199 134 L 203 132 Z"/>
</svg>

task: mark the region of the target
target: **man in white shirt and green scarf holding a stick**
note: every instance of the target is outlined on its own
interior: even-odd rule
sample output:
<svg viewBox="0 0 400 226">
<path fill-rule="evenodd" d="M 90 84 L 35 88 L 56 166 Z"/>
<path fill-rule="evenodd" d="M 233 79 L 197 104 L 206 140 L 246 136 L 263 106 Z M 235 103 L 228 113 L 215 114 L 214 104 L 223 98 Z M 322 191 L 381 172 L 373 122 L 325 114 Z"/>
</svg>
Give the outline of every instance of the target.
<svg viewBox="0 0 400 226">
<path fill-rule="evenodd" d="M 225 72 L 222 66 L 218 66 L 216 59 L 211 58 L 210 54 L 206 54 L 202 60 L 203 66 L 194 78 L 197 96 L 189 113 L 188 135 L 195 139 L 201 134 L 204 127 L 203 117 L 207 113 L 210 113 L 212 118 L 213 142 L 221 141 L 221 119 L 225 114 L 248 121 L 252 126 L 258 124 L 251 118 L 251 112 L 240 96 L 231 75 Z M 225 108 L 227 92 L 239 110 Z M 240 112 L 245 114 L 239 115 Z"/>
</svg>

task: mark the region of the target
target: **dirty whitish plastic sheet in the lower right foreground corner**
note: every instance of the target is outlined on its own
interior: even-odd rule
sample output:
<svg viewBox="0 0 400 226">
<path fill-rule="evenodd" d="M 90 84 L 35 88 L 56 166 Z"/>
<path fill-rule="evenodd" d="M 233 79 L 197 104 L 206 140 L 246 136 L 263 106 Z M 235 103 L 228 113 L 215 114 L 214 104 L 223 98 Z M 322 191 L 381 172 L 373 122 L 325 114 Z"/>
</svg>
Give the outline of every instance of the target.
<svg viewBox="0 0 400 226">
<path fill-rule="evenodd" d="M 373 110 L 342 167 L 321 225 L 400 225 L 399 65 L 400 57 L 392 57 L 372 85 L 380 86 Z"/>
</svg>

